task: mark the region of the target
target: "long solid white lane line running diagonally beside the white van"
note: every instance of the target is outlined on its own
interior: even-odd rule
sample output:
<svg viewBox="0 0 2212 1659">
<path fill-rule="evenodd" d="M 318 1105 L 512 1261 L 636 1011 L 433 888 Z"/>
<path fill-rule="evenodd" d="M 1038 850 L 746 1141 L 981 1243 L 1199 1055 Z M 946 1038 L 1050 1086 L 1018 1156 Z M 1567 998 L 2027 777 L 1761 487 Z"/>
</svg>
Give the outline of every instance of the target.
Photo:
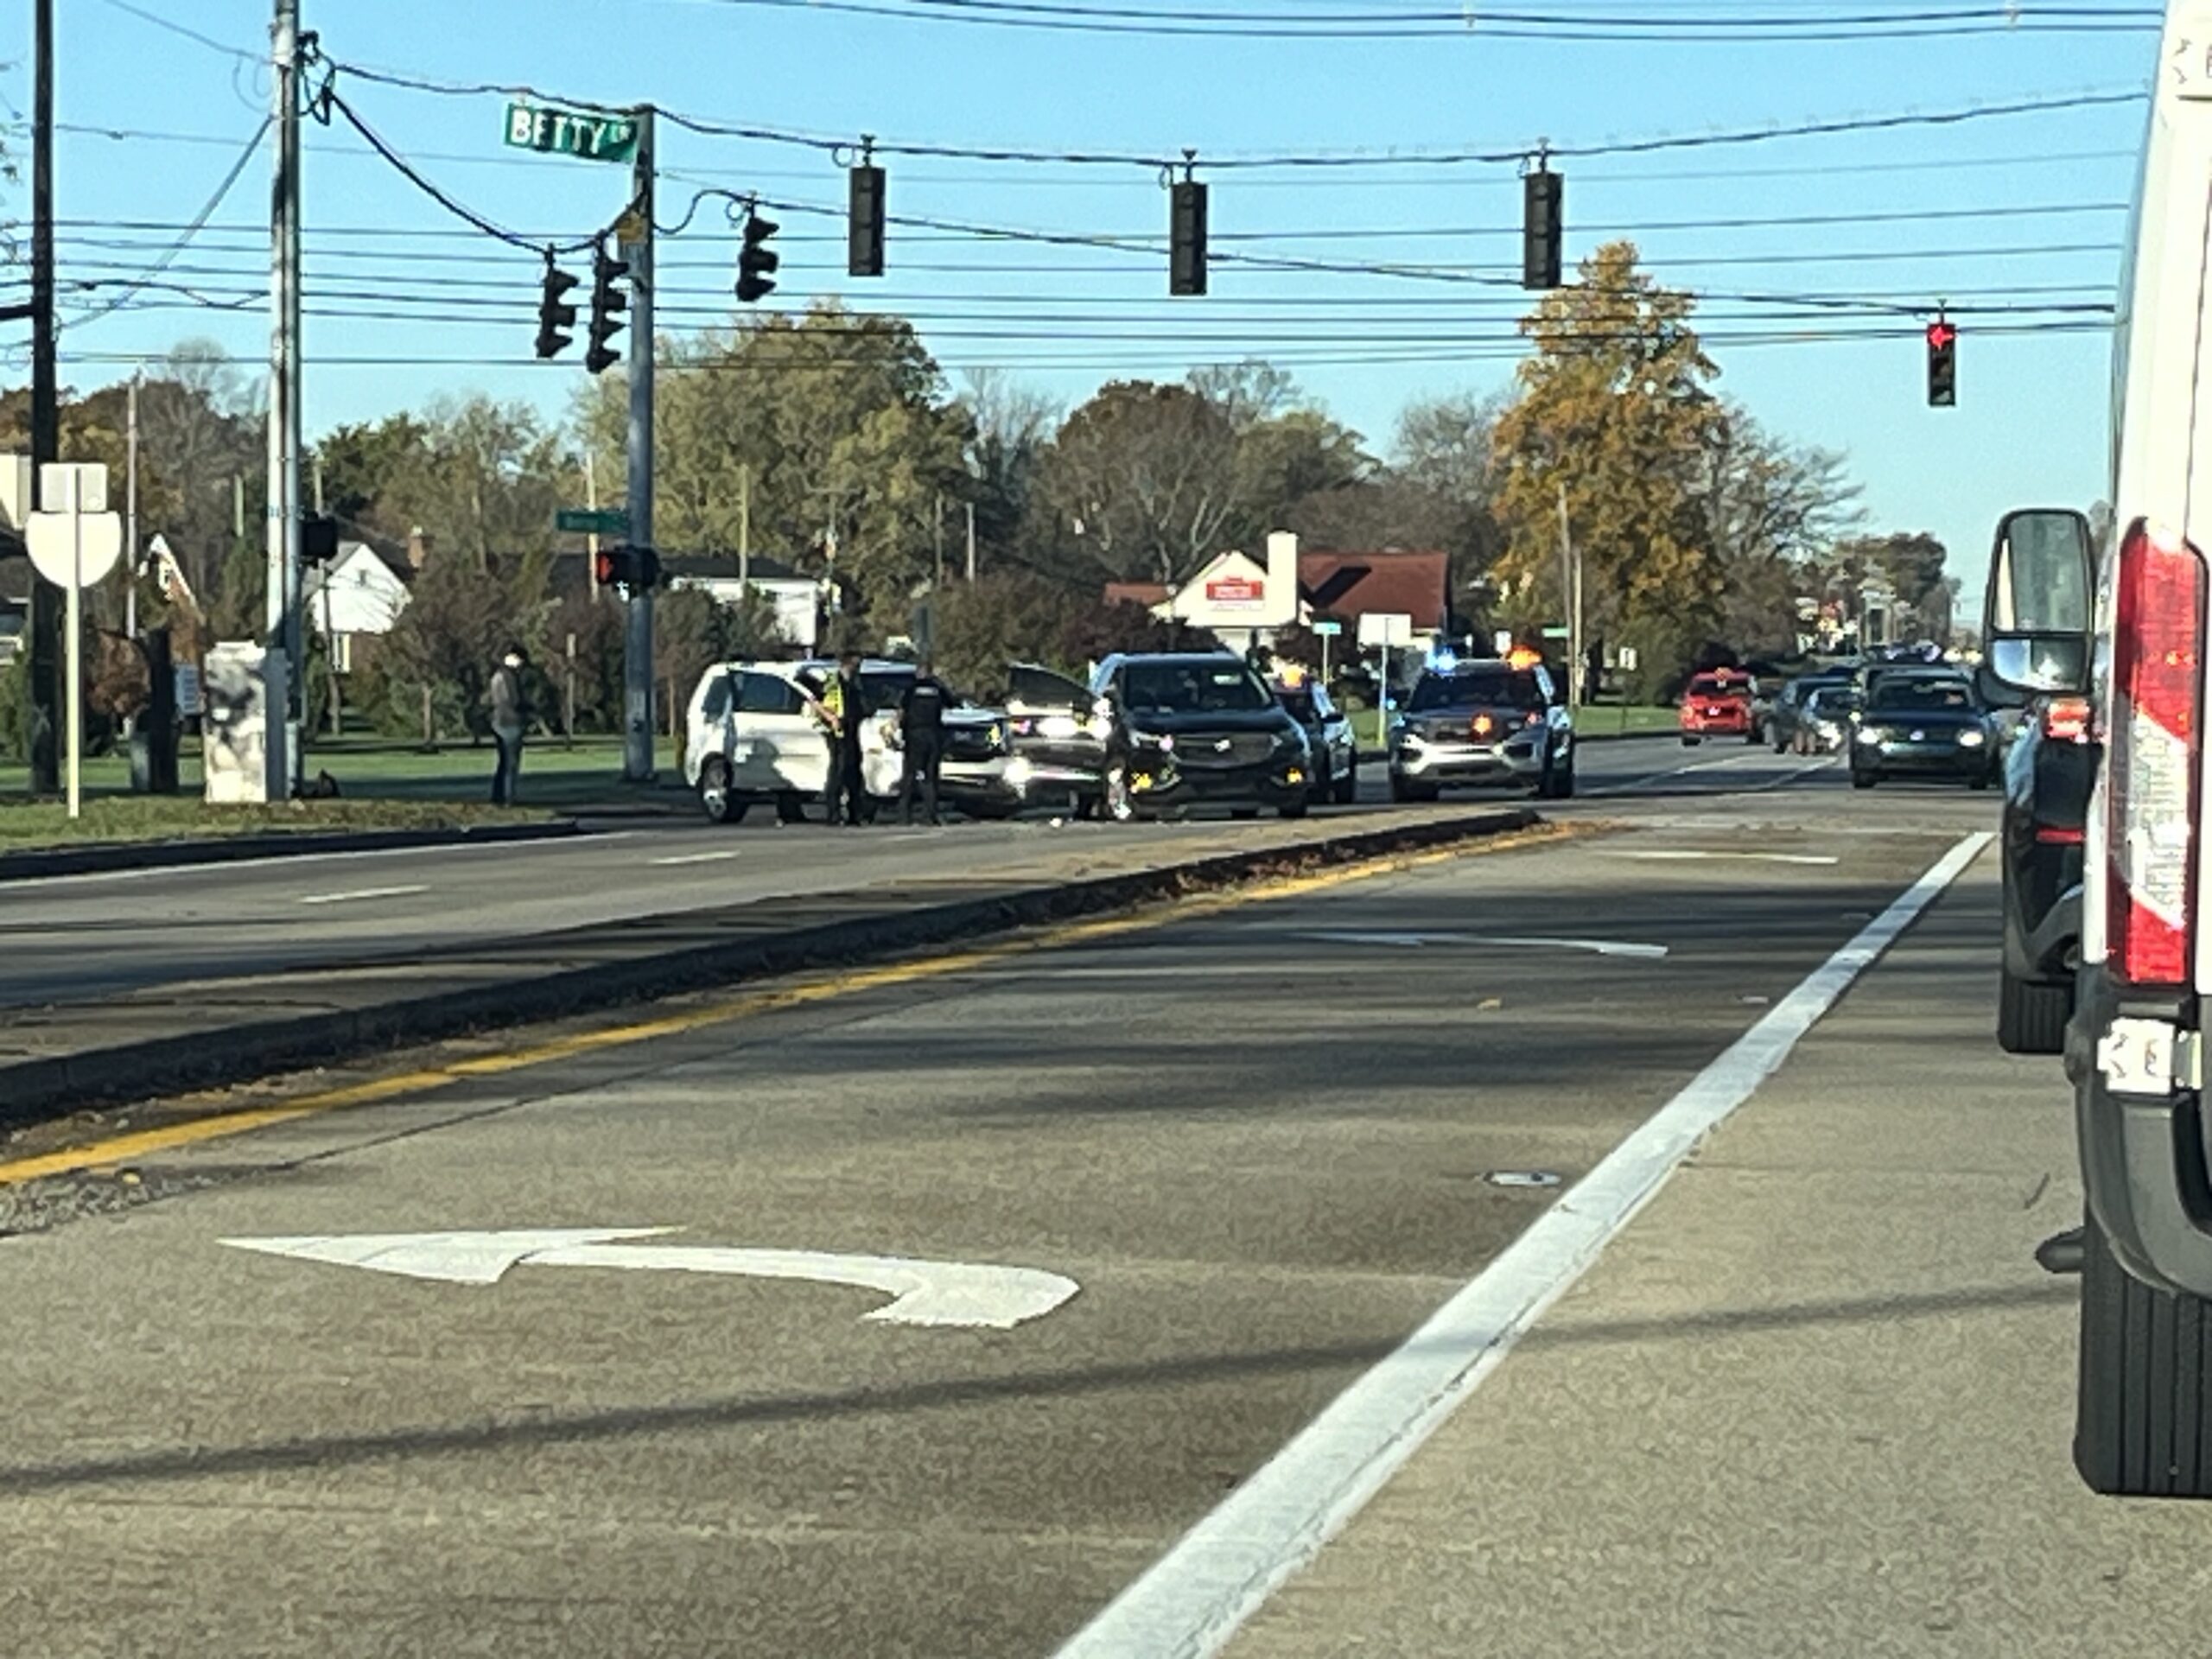
<svg viewBox="0 0 2212 1659">
<path fill-rule="evenodd" d="M 1690 1150 L 1993 841 L 1960 841 L 1374 1369 L 1192 1526 L 1057 1659 L 1210 1659 L 1482 1385 Z"/>
</svg>

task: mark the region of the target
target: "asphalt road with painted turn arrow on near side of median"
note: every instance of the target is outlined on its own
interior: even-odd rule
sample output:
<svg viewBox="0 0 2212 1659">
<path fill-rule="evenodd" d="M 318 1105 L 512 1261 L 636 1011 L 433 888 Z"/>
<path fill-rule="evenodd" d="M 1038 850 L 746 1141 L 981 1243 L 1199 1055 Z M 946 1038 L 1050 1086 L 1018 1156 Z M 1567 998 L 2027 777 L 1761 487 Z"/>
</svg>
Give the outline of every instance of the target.
<svg viewBox="0 0 2212 1659">
<path fill-rule="evenodd" d="M 1088 925 L 949 973 L 876 971 L 803 1009 L 84 1177 L 108 1212 L 0 1241 L 0 1650 L 1053 1655 L 1991 816 L 1986 796 L 1854 796 L 1774 757 L 1663 759 L 1701 770 L 1639 787 L 1632 814 L 1575 807 L 1617 821 L 1604 834 Z M 1619 1327 L 1610 1343 L 1509 1358 L 1511 1413 L 1471 1409 L 1407 1471 L 1431 1506 L 1385 1513 L 1385 1489 L 1374 1513 L 1398 1531 L 1323 1553 L 1248 1632 L 1254 1652 L 1489 1652 L 1484 1601 L 1504 1593 L 1524 1624 L 1500 1652 L 2183 1652 L 2174 1597 L 2194 1606 L 2201 1571 L 2135 1586 L 2135 1624 L 2088 1644 L 2077 1624 L 2059 1646 L 2031 1617 L 2051 1597 L 2006 1595 L 1980 1555 L 2033 1524 L 2002 1475 L 2031 1469 L 2037 1500 L 2064 1489 L 2048 1433 L 1966 1409 L 1986 1387 L 2048 1429 L 2064 1394 L 2062 1292 L 2022 1254 L 2062 1225 L 2064 1128 L 2046 1110 L 1980 1161 L 1920 1128 L 1953 1088 L 2015 1113 L 2024 1079 L 2055 1093 L 2048 1066 L 2008 1071 L 1982 1037 L 1986 867 L 1938 922 L 1942 951 L 1874 967 L 1816 1029 L 1849 1031 L 1818 1088 L 1790 1062 L 1770 1084 L 1785 1113 L 1767 1095 L 1745 1108 L 1745 1133 L 1798 1137 L 1763 1144 L 1798 1177 L 1752 1194 L 1763 1223 L 1670 1210 L 1670 1190 L 1621 1239 L 1646 1283 L 1593 1314 Z M 1847 1026 L 1869 998 L 1878 1018 Z M 1823 1088 L 1851 1110 L 1827 1121 Z M 1978 1135 L 2004 1121 L 1975 1106 Z M 1882 1177 L 1916 1152 L 1931 1168 L 1889 1208 Z M 2042 1212 L 2015 1164 L 2044 1168 Z M 546 1228 L 677 1232 L 498 1283 L 265 1252 Z M 1900 1234 L 1865 1250 L 1871 1272 L 1920 1261 L 2024 1285 L 2015 1312 L 2039 1340 L 1984 1354 L 1971 1323 L 1907 1310 L 1880 1332 L 1891 1369 L 1869 1376 L 1849 1340 L 1798 1363 L 1747 1321 L 1734 1369 L 1666 1369 L 1681 1363 L 1668 1296 L 1697 1301 L 1712 1276 L 1721 1301 L 1790 1303 L 1801 1254 L 1847 1276 L 1836 1232 L 1854 1228 Z M 916 1327 L 865 1318 L 880 1290 L 708 1272 L 728 1265 L 708 1256 L 637 1270 L 679 1248 L 995 1265 L 1075 1292 L 1011 1329 Z M 451 1248 L 438 1261 L 451 1272 Z M 1754 1413 L 1752 1462 L 1785 1480 L 1699 1473 L 1743 1451 L 1725 1411 L 1699 1409 L 1703 1383 Z M 1947 1469 L 1922 1504 L 1911 1458 L 1834 1460 L 1854 1431 L 1927 1447 L 1938 1400 L 1947 1429 L 2020 1440 L 2000 1478 Z M 1666 1433 L 1632 1431 L 1646 1402 Z M 1823 1433 L 1801 1449 L 1787 1436 L 1807 1422 Z M 1832 1460 L 1803 1462 L 1814 1449 Z M 1573 1537 L 1469 1533 L 1433 1498 L 1453 1482 L 1489 1495 L 1506 1517 L 1491 1526 Z M 1858 1626 L 1834 1597 L 1863 1590 L 1882 1619 L 1920 1608 L 1836 1573 L 1825 1608 L 1787 1601 L 1787 1628 L 1752 1588 L 1679 1595 L 1703 1559 L 1756 1562 L 1747 1586 L 1787 1579 L 1854 1491 L 1880 1493 L 1896 1531 L 1849 1559 L 1978 1575 L 1986 1639 Z M 1630 1500 L 1648 1531 L 1597 1509 Z M 2088 1524 L 2108 1557 L 2141 1537 L 2181 1559 L 2179 1524 Z M 1464 1571 L 1447 1542 L 1495 1548 L 1498 1597 L 1447 1584 Z M 1606 1548 L 1641 1551 L 1635 1571 L 1615 1575 Z M 1765 1621 L 1699 1646 L 1730 1597 Z M 1425 1624 L 1431 1604 L 1460 1617 Z M 1396 1635 L 1365 1641 L 1367 1606 Z"/>
</svg>

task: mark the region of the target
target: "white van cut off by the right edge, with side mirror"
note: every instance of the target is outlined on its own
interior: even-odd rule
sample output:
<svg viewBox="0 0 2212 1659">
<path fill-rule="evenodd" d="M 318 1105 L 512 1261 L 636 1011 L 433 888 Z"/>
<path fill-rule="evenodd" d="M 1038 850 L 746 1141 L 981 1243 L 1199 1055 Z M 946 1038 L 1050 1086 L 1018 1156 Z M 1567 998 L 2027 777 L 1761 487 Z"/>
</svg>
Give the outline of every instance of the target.
<svg viewBox="0 0 2212 1659">
<path fill-rule="evenodd" d="M 1986 679 L 2086 695 L 2099 745 L 2066 1033 L 2088 1190 L 2075 1467 L 2101 1493 L 2212 1498 L 2212 0 L 2168 7 L 2128 243 L 2110 533 L 2006 518 Z"/>
</svg>

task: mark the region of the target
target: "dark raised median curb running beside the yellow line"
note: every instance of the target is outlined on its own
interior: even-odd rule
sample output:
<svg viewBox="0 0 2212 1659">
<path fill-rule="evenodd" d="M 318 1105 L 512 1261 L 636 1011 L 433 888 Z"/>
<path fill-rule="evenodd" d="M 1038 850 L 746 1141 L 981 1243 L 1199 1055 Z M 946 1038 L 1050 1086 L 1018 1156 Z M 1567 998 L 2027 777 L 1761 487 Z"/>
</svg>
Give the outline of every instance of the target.
<svg viewBox="0 0 2212 1659">
<path fill-rule="evenodd" d="M 1431 818 L 1429 823 L 1365 830 L 1296 847 L 1210 854 L 1119 876 L 1018 887 L 991 898 L 925 905 L 891 916 L 858 916 L 770 938 L 692 945 L 628 962 L 562 969 L 533 980 L 487 984 L 436 998 L 53 1055 L 0 1066 L 0 1128 L 24 1128 L 91 1106 L 230 1088 L 283 1071 L 310 1071 L 358 1060 L 378 1048 L 602 1013 L 799 969 L 843 967 L 931 945 L 1006 933 L 1018 927 L 1124 911 L 1292 869 L 1327 869 L 1391 854 L 1427 852 L 1460 841 L 1531 830 L 1537 823 L 1542 818 L 1528 810 Z M 697 936 L 710 931 L 712 925 L 714 914 L 703 911 L 686 918 L 684 931 Z M 544 936 L 546 953 L 555 949 L 557 938 L 557 933 Z"/>
</svg>

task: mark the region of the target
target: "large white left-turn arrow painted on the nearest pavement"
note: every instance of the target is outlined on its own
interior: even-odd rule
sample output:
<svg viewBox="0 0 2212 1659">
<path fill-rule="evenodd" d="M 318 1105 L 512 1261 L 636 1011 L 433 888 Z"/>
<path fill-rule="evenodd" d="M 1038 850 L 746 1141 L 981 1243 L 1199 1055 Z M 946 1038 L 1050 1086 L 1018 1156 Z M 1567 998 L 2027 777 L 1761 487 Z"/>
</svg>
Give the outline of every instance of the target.
<svg viewBox="0 0 2212 1659">
<path fill-rule="evenodd" d="M 551 1228 L 520 1232 L 338 1232 L 296 1239 L 221 1239 L 265 1256 L 327 1261 L 407 1279 L 493 1285 L 509 1267 L 630 1267 L 745 1279 L 810 1279 L 880 1290 L 891 1301 L 863 1318 L 887 1325 L 980 1325 L 1011 1329 L 1042 1318 L 1079 1285 L 1035 1267 L 905 1256 L 836 1256 L 816 1250 L 734 1250 L 728 1245 L 635 1245 L 675 1228 Z"/>
</svg>

